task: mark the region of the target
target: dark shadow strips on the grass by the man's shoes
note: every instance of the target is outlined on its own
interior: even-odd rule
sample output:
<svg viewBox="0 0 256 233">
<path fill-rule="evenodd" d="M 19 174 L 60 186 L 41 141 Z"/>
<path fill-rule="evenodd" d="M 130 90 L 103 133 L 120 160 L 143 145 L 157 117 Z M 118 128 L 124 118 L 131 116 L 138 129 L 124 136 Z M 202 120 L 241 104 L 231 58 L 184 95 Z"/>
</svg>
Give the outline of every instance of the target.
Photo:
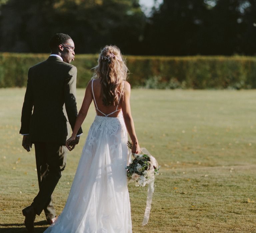
<svg viewBox="0 0 256 233">
<path fill-rule="evenodd" d="M 35 222 L 35 233 L 44 232 L 47 227 L 37 227 L 47 225 L 46 221 Z M 8 223 L 8 224 L 0 224 L 0 233 L 26 233 L 28 232 L 24 226 L 24 224 L 18 223 Z"/>
</svg>

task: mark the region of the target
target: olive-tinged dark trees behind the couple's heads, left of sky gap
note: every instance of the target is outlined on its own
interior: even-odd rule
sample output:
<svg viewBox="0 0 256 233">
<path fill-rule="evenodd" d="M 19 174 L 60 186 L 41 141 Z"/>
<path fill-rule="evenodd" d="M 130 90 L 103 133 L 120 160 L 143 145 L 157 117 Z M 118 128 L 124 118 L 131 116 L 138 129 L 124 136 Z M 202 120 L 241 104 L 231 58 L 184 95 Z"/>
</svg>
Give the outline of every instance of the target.
<svg viewBox="0 0 256 233">
<path fill-rule="evenodd" d="M 106 44 L 134 53 L 144 24 L 138 0 L 9 0 L 1 7 L 0 49 L 49 52 L 50 37 L 64 32 L 79 53 L 95 53 Z"/>
</svg>

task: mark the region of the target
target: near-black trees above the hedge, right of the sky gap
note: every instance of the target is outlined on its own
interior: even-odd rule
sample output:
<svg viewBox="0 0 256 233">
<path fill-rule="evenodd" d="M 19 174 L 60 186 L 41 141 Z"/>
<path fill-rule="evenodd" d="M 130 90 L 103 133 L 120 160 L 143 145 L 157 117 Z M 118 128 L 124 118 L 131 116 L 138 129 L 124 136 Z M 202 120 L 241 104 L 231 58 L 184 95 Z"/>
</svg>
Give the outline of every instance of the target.
<svg viewBox="0 0 256 233">
<path fill-rule="evenodd" d="M 144 52 L 255 54 L 255 4 L 255 0 L 163 0 L 145 27 Z"/>
</svg>

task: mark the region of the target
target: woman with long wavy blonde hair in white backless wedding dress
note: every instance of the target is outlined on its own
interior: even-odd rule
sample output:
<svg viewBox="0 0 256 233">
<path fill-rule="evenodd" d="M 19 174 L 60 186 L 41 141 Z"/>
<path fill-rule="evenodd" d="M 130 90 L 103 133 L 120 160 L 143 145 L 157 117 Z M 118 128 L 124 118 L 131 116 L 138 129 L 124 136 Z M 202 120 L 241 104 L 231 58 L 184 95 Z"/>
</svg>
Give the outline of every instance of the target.
<svg viewBox="0 0 256 233">
<path fill-rule="evenodd" d="M 132 152 L 140 152 L 130 109 L 127 67 L 116 46 L 102 49 L 89 82 L 72 136 L 94 101 L 96 117 L 90 127 L 66 205 L 45 233 L 132 232 L 126 169 L 127 131 Z M 126 131 L 127 129 L 127 131 Z"/>
</svg>

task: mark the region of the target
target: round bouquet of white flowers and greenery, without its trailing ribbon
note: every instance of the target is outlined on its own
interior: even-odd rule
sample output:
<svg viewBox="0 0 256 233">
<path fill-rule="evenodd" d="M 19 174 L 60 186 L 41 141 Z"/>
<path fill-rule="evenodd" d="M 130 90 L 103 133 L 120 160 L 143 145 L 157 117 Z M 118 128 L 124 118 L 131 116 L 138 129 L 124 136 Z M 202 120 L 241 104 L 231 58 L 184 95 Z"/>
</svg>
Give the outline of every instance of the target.
<svg viewBox="0 0 256 233">
<path fill-rule="evenodd" d="M 132 143 L 128 141 L 128 147 L 132 148 Z M 154 177 L 159 173 L 159 166 L 156 159 L 149 153 L 144 153 L 145 148 L 142 148 L 143 154 L 134 154 L 133 159 L 127 169 L 127 177 L 129 181 L 135 181 L 135 186 L 144 187 L 151 183 Z"/>
</svg>

